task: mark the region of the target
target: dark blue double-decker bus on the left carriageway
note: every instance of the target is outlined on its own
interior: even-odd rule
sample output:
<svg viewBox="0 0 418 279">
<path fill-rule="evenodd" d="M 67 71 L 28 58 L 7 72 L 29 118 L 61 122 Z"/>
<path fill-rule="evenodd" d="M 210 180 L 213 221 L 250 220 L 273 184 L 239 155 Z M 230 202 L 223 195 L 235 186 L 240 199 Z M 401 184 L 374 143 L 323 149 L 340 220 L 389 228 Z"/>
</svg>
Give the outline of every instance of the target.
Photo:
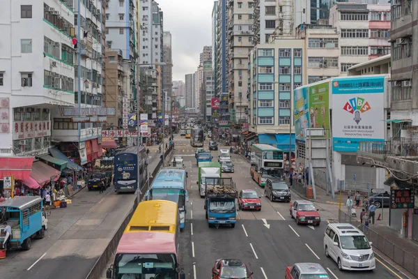
<svg viewBox="0 0 418 279">
<path fill-rule="evenodd" d="M 130 146 L 116 154 L 113 181 L 116 193 L 134 193 L 138 186 L 141 189 L 145 185 L 148 167 L 146 157 L 144 146 Z"/>
</svg>

